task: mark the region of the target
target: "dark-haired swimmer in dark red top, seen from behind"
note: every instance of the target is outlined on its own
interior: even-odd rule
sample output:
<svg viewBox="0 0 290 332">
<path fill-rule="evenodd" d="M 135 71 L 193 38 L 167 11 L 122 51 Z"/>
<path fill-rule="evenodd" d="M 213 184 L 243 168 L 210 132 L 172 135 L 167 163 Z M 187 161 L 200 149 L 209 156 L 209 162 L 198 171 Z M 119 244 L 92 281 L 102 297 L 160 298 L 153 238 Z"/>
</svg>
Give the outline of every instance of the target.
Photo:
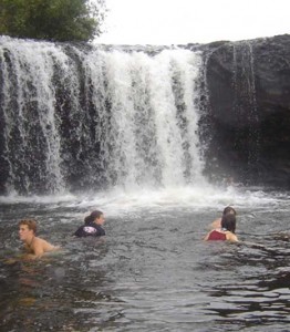
<svg viewBox="0 0 290 332">
<path fill-rule="evenodd" d="M 221 218 L 221 228 L 209 231 L 204 238 L 205 241 L 231 241 L 237 242 L 236 216 L 234 214 L 224 215 Z"/>
</svg>

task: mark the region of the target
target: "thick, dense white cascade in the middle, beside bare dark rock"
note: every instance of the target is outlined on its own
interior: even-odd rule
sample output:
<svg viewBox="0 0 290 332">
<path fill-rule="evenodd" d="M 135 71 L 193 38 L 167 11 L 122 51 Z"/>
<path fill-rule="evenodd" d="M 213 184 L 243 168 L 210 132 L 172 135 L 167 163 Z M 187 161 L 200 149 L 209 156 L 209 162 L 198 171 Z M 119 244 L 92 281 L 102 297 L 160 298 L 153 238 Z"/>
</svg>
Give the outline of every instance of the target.
<svg viewBox="0 0 290 332">
<path fill-rule="evenodd" d="M 97 52 L 85 61 L 93 83 L 93 101 L 106 131 L 103 163 L 107 178 L 126 187 L 136 185 L 178 186 L 203 180 L 198 147 L 198 92 L 195 82 L 200 56 L 186 50 L 143 52 Z M 105 72 L 107 86 L 100 74 Z M 89 79 L 89 77 L 87 77 Z M 111 121 L 108 121 L 108 117 Z M 100 134 L 101 136 L 101 134 Z"/>
</svg>

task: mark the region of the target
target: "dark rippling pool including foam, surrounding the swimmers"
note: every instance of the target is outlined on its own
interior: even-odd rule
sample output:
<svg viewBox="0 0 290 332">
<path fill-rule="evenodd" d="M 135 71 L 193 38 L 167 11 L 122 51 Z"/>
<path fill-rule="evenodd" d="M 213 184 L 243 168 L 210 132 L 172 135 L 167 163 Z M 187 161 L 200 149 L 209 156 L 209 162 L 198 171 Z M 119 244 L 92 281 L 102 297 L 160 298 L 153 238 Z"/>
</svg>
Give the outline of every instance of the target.
<svg viewBox="0 0 290 332">
<path fill-rule="evenodd" d="M 191 193 L 174 204 L 170 193 L 152 193 L 143 205 L 139 196 L 124 195 L 99 195 L 99 204 L 96 196 L 3 198 L 2 330 L 287 331 L 288 194 L 211 194 L 203 200 Z M 247 243 L 203 242 L 229 200 L 238 210 L 238 237 Z M 96 207 L 106 215 L 107 236 L 74 239 L 84 215 Z M 35 217 L 39 235 L 62 251 L 15 260 L 17 224 L 25 216 Z"/>
</svg>

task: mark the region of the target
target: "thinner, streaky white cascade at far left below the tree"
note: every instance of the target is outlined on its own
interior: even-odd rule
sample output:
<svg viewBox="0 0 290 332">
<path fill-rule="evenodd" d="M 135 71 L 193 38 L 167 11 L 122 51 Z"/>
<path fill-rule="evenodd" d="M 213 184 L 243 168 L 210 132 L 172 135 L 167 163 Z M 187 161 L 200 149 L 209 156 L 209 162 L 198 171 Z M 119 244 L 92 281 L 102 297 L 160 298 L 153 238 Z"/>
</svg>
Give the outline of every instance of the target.
<svg viewBox="0 0 290 332">
<path fill-rule="evenodd" d="M 9 163 L 8 185 L 15 181 L 30 191 L 29 170 L 45 184 L 46 190 L 63 188 L 60 169 L 60 135 L 58 133 L 53 65 L 65 65 L 66 55 L 50 43 L 4 40 L 0 49 L 3 75 L 2 127 Z M 6 61 L 9 53 L 10 61 Z M 12 81 L 12 77 L 14 81 Z M 12 142 L 17 132 L 18 142 Z M 38 156 L 35 156 L 38 154 Z M 43 157 L 44 167 L 35 165 Z M 21 170 L 20 166 L 21 165 Z"/>
</svg>

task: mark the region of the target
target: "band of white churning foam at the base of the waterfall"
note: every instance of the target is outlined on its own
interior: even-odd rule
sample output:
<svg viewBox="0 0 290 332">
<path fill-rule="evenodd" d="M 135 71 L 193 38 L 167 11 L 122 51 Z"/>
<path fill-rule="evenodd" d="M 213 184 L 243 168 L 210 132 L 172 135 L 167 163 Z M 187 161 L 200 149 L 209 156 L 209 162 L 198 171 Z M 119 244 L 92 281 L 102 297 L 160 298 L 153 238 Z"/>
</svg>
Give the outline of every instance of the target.
<svg viewBox="0 0 290 332">
<path fill-rule="evenodd" d="M 275 208 L 276 206 L 288 205 L 289 194 L 270 193 L 249 188 L 217 188 L 214 186 L 203 187 L 170 187 L 164 189 L 138 189 L 124 190 L 114 188 L 110 191 L 83 193 L 79 195 L 60 196 L 30 196 L 21 197 L 10 195 L 0 197 L 0 204 L 39 204 L 51 206 L 51 208 L 70 207 L 84 210 L 101 209 L 107 216 L 120 214 L 132 214 L 138 210 L 168 210 L 168 209 L 191 209 L 205 210 L 214 208 L 222 210 L 225 206 L 235 208 Z"/>
</svg>

